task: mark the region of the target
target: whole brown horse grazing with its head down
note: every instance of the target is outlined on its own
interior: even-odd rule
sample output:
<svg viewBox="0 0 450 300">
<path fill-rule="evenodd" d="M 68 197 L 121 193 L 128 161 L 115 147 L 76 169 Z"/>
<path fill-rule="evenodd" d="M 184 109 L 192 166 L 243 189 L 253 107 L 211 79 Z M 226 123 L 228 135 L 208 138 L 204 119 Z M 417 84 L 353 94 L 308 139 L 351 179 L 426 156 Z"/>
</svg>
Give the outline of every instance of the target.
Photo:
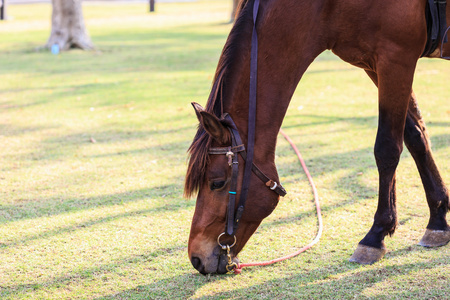
<svg viewBox="0 0 450 300">
<path fill-rule="evenodd" d="M 233 175 L 229 166 L 234 160 L 245 164 L 237 154 L 242 149 L 233 144 L 235 137 L 230 128 L 235 128 L 242 144 L 247 145 L 254 1 L 244 0 L 240 5 L 206 108 L 194 104 L 200 126 L 189 150 L 185 195 L 198 192 L 188 252 L 192 265 L 202 274 L 226 273 L 229 266 L 233 268 L 237 254 L 274 210 L 281 194 L 267 188 L 253 172 L 238 229 L 227 231 L 218 240 L 230 212 L 227 213 L 229 195 L 239 196 L 244 177 L 242 167 Z M 274 162 L 278 131 L 298 82 L 320 53 L 331 49 L 344 61 L 364 69 L 378 87 L 379 122 L 374 154 L 379 171 L 379 202 L 372 228 L 350 258 L 358 263 L 371 264 L 381 259 L 386 252 L 383 240 L 396 228 L 395 173 L 403 142 L 416 162 L 430 208 L 420 244 L 436 247 L 450 240 L 446 221 L 448 190 L 434 163 L 427 130 L 412 92 L 416 63 L 427 47 L 429 35 L 427 2 L 266 0 L 261 1 L 257 13 L 258 103 L 253 162 L 271 178 L 267 182 L 270 187 L 279 186 Z M 448 6 L 446 12 L 450 23 Z M 440 57 L 441 51 L 450 55 L 450 43 L 444 43 L 442 50 L 439 43 L 426 56 Z M 227 148 L 232 145 L 233 149 Z M 235 191 L 230 187 L 236 185 L 233 176 L 237 176 Z M 231 212 L 236 207 L 233 205 Z M 227 262 L 227 255 L 231 263 Z"/>
</svg>

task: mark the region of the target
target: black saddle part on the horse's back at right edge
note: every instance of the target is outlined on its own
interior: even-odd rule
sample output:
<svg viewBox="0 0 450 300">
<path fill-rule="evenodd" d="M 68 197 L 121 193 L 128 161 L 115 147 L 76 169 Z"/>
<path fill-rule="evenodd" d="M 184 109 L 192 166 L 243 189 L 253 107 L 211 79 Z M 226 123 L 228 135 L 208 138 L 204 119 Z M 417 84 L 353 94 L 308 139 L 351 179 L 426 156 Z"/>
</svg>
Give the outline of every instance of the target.
<svg viewBox="0 0 450 300">
<path fill-rule="evenodd" d="M 425 9 L 427 20 L 427 43 L 422 56 L 433 53 L 439 42 L 447 43 L 447 20 L 446 20 L 447 0 L 428 0 Z M 442 56 L 442 53 L 441 53 Z"/>
</svg>

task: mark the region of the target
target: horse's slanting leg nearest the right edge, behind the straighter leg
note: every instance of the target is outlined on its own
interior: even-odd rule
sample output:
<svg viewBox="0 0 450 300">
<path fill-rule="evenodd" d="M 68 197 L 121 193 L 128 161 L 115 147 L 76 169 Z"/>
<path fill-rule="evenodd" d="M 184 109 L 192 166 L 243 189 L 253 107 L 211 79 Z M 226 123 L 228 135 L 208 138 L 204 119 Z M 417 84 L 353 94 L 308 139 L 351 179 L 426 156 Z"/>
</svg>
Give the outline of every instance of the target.
<svg viewBox="0 0 450 300">
<path fill-rule="evenodd" d="M 446 221 L 449 194 L 434 162 L 430 139 L 414 93 L 409 102 L 404 140 L 419 170 L 430 209 L 427 230 L 419 245 L 424 247 L 443 246 L 450 241 L 450 227 Z"/>
</svg>

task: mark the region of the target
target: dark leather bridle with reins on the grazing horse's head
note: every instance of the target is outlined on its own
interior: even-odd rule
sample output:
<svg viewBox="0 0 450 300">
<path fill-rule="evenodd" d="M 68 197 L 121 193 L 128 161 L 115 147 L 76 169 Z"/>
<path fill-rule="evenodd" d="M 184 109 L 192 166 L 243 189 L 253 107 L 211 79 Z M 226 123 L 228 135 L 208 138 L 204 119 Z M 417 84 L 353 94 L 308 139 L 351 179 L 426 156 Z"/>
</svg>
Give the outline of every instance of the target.
<svg viewBox="0 0 450 300">
<path fill-rule="evenodd" d="M 286 190 L 280 183 L 267 177 L 254 163 L 253 154 L 255 148 L 255 132 L 256 132 L 256 93 L 257 93 L 257 73 L 258 73 L 258 36 L 256 33 L 256 18 L 259 10 L 259 1 L 255 0 L 253 3 L 253 32 L 252 32 L 252 44 L 251 44 L 251 56 L 250 56 L 250 87 L 249 87 L 249 109 L 248 109 L 248 132 L 247 132 L 247 151 L 246 147 L 242 143 L 241 137 L 234 124 L 231 116 L 229 114 L 224 114 L 223 119 L 227 120 L 231 126 L 229 131 L 231 134 L 231 146 L 229 147 L 219 147 L 210 148 L 210 155 L 225 154 L 228 157 L 228 164 L 231 167 L 231 182 L 229 190 L 229 202 L 227 207 L 227 220 L 225 225 L 225 232 L 220 234 L 217 238 L 217 243 L 219 246 L 227 251 L 228 265 L 227 270 L 231 271 L 229 268 L 233 268 L 233 262 L 231 261 L 230 248 L 236 244 L 236 230 L 239 226 L 242 214 L 244 212 L 245 203 L 247 201 L 248 189 L 250 186 L 250 177 L 252 172 L 261 181 L 275 193 L 280 196 L 286 195 Z M 239 173 L 239 162 L 238 154 L 245 161 L 244 167 L 244 177 L 242 180 L 242 187 L 239 197 L 239 202 L 236 208 L 236 189 L 237 189 L 237 179 Z M 222 236 L 228 235 L 234 238 L 234 242 L 231 245 L 223 245 L 220 242 Z M 234 264 L 235 265 L 235 264 Z"/>
</svg>

